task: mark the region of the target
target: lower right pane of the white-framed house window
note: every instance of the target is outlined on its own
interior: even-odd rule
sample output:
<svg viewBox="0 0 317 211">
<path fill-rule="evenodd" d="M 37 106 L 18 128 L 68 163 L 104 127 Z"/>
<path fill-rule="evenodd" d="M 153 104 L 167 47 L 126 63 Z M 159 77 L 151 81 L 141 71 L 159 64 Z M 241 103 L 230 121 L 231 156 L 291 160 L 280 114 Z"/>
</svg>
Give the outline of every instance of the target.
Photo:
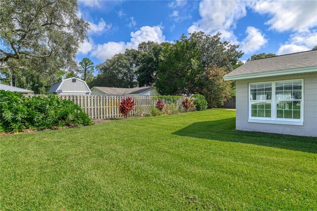
<svg viewBox="0 0 317 211">
<path fill-rule="evenodd" d="M 276 118 L 300 119 L 301 102 L 300 101 L 277 101 Z"/>
</svg>

